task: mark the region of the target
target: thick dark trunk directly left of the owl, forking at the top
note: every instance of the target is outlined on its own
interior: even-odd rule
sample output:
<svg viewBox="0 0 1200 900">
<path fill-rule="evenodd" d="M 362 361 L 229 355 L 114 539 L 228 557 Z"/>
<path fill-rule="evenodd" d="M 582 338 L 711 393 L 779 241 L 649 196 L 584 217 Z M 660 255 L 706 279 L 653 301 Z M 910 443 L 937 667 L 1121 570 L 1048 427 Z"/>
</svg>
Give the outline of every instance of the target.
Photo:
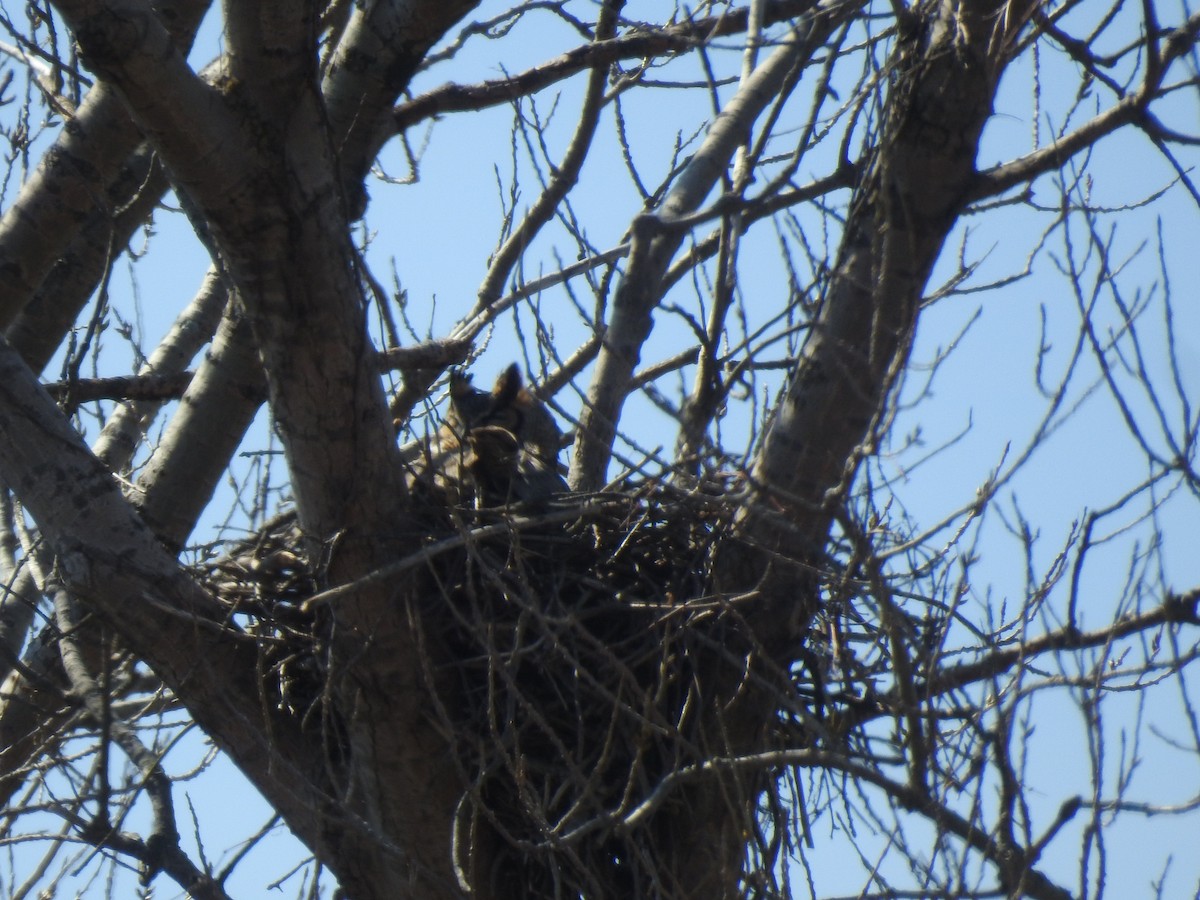
<svg viewBox="0 0 1200 900">
<path fill-rule="evenodd" d="M 314 554 L 337 538 L 330 583 L 354 580 L 395 552 L 404 490 L 316 92 L 312 23 L 293 4 L 233 12 L 222 95 L 190 72 L 140 4 L 60 8 L 89 64 L 121 91 L 176 187 L 211 224 L 262 354 L 300 523 Z M 347 808 L 308 803 L 304 815 L 317 817 L 298 833 L 306 841 L 314 829 L 341 834 L 334 823 L 342 815 L 370 828 L 372 840 L 352 829 L 328 858 L 353 895 L 378 895 L 380 884 L 412 884 L 426 896 L 452 892 L 445 835 L 461 787 L 424 712 L 404 605 L 390 588 L 362 590 L 338 604 L 336 617 L 329 677 L 349 758 L 332 778 Z M 180 696 L 191 707 L 190 695 Z M 203 718 L 203 710 L 193 714 Z M 230 752 L 271 797 L 275 776 L 259 768 L 269 757 Z M 298 815 L 281 811 L 289 822 Z"/>
</svg>

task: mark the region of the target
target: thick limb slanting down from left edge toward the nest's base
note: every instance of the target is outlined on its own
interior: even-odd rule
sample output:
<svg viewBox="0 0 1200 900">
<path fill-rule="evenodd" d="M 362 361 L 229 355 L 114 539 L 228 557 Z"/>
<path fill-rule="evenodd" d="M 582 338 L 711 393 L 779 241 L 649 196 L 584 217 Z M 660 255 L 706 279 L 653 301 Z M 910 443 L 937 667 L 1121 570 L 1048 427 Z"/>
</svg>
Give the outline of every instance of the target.
<svg viewBox="0 0 1200 900">
<path fill-rule="evenodd" d="M 330 803 L 314 787 L 319 756 L 295 726 L 270 715 L 254 683 L 256 650 L 137 517 L 119 484 L 88 450 L 29 370 L 0 343 L 0 466 L 55 548 L 60 575 L 145 659 L 205 731 L 312 846 L 305 820 Z"/>
</svg>

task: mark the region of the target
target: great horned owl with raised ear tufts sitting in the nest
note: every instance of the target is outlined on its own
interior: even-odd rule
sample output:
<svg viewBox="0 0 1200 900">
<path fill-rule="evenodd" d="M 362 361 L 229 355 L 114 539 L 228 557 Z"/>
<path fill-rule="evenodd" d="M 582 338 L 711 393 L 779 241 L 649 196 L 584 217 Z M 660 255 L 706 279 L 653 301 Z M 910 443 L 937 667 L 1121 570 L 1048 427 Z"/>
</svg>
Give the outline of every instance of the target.
<svg viewBox="0 0 1200 900">
<path fill-rule="evenodd" d="M 515 364 L 490 392 L 455 372 L 445 425 L 430 442 L 416 482 L 444 491 L 451 504 L 541 503 L 566 490 L 558 473 L 562 442 L 554 416 L 526 390 Z"/>
</svg>

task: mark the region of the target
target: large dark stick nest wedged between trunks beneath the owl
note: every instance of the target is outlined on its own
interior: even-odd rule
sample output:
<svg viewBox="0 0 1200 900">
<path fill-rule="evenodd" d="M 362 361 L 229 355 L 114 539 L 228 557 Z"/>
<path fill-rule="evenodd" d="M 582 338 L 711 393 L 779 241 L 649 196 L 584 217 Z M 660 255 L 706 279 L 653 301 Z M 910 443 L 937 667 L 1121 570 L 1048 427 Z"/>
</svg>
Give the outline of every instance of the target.
<svg viewBox="0 0 1200 900">
<path fill-rule="evenodd" d="M 416 554 L 433 590 L 414 620 L 439 648 L 427 674 L 470 786 L 460 862 L 487 830 L 508 848 L 497 877 L 521 895 L 565 884 L 619 895 L 655 852 L 622 823 L 701 762 L 680 730 L 698 660 L 720 652 L 730 624 L 709 592 L 731 510 L 718 494 L 648 482 L 536 511 L 451 512 Z M 322 607 L 302 607 L 319 564 L 294 518 L 227 547 L 200 575 L 258 640 L 274 702 L 313 715 L 328 696 L 325 625 Z"/>
</svg>

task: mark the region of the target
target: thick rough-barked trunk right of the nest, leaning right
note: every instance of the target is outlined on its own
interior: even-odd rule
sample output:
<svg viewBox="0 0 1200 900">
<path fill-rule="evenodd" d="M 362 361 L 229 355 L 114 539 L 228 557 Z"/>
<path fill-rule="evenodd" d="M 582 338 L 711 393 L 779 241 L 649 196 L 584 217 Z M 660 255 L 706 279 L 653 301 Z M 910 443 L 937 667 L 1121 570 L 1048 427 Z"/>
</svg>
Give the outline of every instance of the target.
<svg viewBox="0 0 1200 900">
<path fill-rule="evenodd" d="M 888 121 L 851 199 L 829 293 L 750 472 L 760 497 L 743 508 L 740 528 L 762 552 L 738 548 L 719 566 L 724 592 L 755 598 L 745 607 L 754 637 L 730 649 L 757 678 L 714 658 L 712 688 L 728 697 L 704 725 L 714 755 L 737 758 L 770 745 L 763 724 L 787 690 L 784 673 L 817 608 L 815 574 L 834 511 L 870 452 L 871 428 L 906 361 L 929 272 L 967 202 L 1004 62 L 996 48 L 1015 38 L 1020 20 L 1004 31 L 1000 7 L 977 6 L 959 30 L 952 23 L 964 13 L 952 6 L 942 6 L 928 41 L 910 36 L 898 50 L 904 74 L 892 86 Z M 754 770 L 714 773 L 712 782 L 690 791 L 686 806 L 706 810 L 702 818 L 714 824 L 689 835 L 674 823 L 674 870 L 691 878 L 689 890 L 736 894 L 742 842 L 734 810 L 752 805 L 749 798 L 764 788 L 761 778 Z"/>
</svg>

